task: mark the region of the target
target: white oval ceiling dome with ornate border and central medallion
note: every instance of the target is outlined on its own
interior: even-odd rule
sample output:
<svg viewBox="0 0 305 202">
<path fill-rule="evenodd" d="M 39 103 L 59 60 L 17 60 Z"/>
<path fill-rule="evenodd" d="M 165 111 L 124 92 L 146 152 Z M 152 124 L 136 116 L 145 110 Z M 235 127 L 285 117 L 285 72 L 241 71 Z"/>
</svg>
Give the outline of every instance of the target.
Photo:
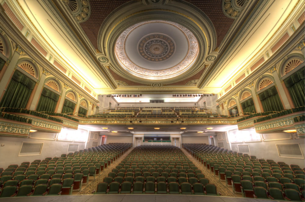
<svg viewBox="0 0 305 202">
<path fill-rule="evenodd" d="M 114 52 L 128 73 L 163 80 L 190 69 L 198 58 L 199 44 L 189 29 L 176 22 L 149 20 L 125 29 L 116 40 Z"/>
</svg>

